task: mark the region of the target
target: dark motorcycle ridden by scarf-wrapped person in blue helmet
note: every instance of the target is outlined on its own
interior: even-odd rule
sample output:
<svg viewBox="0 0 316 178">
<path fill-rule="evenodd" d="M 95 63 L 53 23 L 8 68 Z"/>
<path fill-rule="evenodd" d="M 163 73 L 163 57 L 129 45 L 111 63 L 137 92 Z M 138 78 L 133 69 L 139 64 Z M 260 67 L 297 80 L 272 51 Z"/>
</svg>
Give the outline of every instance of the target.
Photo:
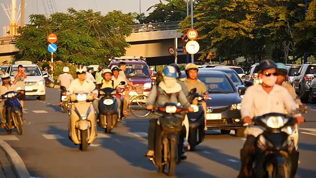
<svg viewBox="0 0 316 178">
<path fill-rule="evenodd" d="M 183 117 L 180 112 L 183 107 L 176 103 L 165 103 L 158 106 L 158 110 L 163 114 L 158 119 L 155 133 L 154 156 L 150 158 L 153 164 L 158 167 L 158 172 L 162 173 L 167 166 L 167 175 L 173 176 L 175 168 L 180 162 L 182 152 L 178 149 L 179 134 L 182 131 Z"/>
</svg>

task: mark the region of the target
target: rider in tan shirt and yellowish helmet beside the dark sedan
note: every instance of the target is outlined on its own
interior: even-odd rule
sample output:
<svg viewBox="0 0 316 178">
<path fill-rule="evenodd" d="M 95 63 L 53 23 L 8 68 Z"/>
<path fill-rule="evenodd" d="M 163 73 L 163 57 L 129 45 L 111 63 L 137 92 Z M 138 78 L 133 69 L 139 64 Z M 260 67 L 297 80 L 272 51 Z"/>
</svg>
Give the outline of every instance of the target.
<svg viewBox="0 0 316 178">
<path fill-rule="evenodd" d="M 197 79 L 197 75 L 198 75 L 197 65 L 195 65 L 193 63 L 187 64 L 185 67 L 185 72 L 186 72 L 187 78 L 185 78 L 183 80 L 183 82 L 186 84 L 189 91 L 191 91 L 191 89 L 196 88 L 198 94 L 203 95 L 205 99 L 208 99 L 209 96 L 207 94 L 207 87 L 205 86 L 205 84 L 203 82 L 201 82 L 200 80 Z M 206 111 L 206 103 L 204 101 L 202 101 L 201 105 L 203 106 L 204 111 Z M 204 128 L 204 130 L 207 130 L 206 112 L 204 112 L 204 116 L 205 116 L 205 121 L 204 121 L 205 128 Z"/>
</svg>

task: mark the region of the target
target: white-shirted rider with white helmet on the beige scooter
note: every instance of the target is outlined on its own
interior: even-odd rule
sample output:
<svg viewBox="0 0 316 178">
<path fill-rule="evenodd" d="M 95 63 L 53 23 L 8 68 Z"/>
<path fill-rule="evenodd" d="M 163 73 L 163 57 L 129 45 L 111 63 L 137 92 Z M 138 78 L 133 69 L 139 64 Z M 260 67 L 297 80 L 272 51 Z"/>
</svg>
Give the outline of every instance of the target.
<svg viewBox="0 0 316 178">
<path fill-rule="evenodd" d="M 73 80 L 67 89 L 67 99 L 70 98 L 71 94 L 74 94 L 78 91 L 86 91 L 93 94 L 93 97 L 96 98 L 98 96 L 98 90 L 95 89 L 95 85 L 90 80 L 85 80 L 85 74 L 87 72 L 87 68 L 83 65 L 78 65 L 76 68 L 77 79 Z"/>
</svg>

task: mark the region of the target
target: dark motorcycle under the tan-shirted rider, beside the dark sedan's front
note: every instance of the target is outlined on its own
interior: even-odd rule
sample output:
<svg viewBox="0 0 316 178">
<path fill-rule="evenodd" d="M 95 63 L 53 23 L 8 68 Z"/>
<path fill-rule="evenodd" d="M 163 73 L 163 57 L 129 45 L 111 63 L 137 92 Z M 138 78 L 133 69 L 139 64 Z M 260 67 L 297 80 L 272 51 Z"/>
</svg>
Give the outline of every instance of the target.
<svg viewBox="0 0 316 178">
<path fill-rule="evenodd" d="M 203 100 L 203 96 L 197 93 L 197 89 L 191 89 L 188 101 L 193 108 L 193 112 L 187 113 L 189 119 L 189 137 L 188 142 L 190 144 L 190 151 L 194 151 L 195 147 L 204 140 L 205 136 L 205 116 L 203 106 L 199 101 Z"/>
</svg>

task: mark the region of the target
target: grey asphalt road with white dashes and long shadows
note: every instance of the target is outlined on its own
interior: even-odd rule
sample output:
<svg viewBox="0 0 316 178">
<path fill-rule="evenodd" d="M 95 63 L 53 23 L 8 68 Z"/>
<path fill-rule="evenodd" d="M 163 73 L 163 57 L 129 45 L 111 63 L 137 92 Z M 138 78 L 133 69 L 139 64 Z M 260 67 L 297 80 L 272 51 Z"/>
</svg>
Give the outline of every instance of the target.
<svg viewBox="0 0 316 178">
<path fill-rule="evenodd" d="M 22 158 L 30 175 L 41 178 L 165 178 L 142 155 L 147 151 L 148 119 L 128 117 L 98 139 L 87 152 L 79 151 L 68 139 L 68 115 L 62 113 L 58 89 L 46 90 L 46 101 L 27 100 L 23 135 L 7 135 L 7 142 Z M 316 105 L 306 114 L 300 128 L 300 161 L 297 178 L 316 175 Z M 314 107 L 314 108 L 313 108 Z M 178 178 L 236 178 L 239 150 L 244 138 L 208 131 L 205 140 L 176 168 Z"/>
</svg>

